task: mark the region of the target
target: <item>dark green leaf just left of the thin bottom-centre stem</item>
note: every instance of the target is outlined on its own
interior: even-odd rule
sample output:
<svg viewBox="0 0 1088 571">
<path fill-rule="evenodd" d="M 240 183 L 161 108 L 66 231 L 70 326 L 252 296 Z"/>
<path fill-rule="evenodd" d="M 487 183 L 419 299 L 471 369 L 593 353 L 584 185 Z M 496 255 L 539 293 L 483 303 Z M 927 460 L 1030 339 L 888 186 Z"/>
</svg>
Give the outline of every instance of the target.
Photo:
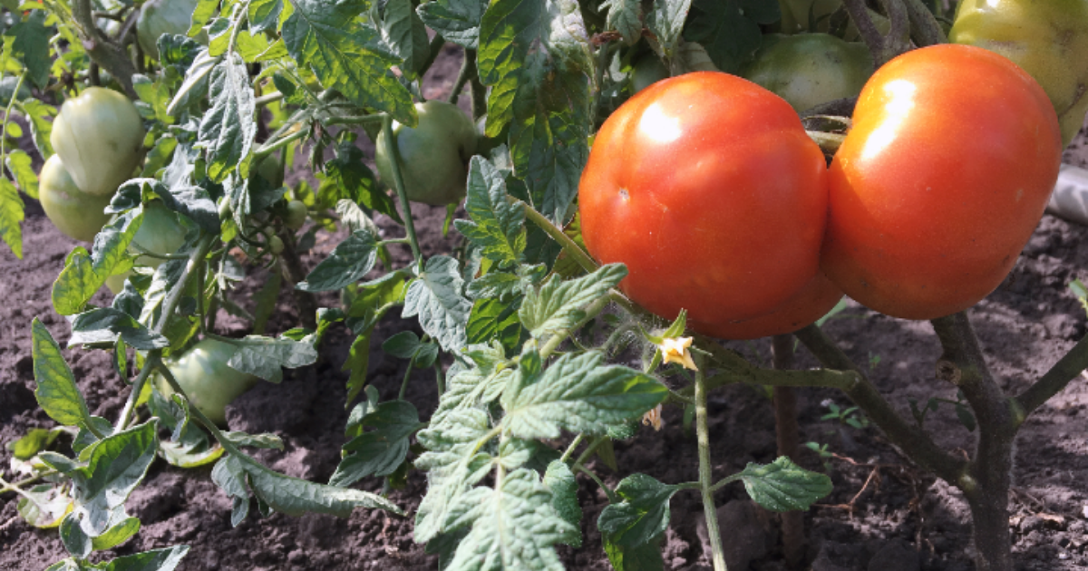
<svg viewBox="0 0 1088 571">
<path fill-rule="evenodd" d="M 669 500 L 679 489 L 646 474 L 631 474 L 616 488 L 622 501 L 605 507 L 597 529 L 609 543 L 622 548 L 650 543 L 669 526 Z"/>
</svg>

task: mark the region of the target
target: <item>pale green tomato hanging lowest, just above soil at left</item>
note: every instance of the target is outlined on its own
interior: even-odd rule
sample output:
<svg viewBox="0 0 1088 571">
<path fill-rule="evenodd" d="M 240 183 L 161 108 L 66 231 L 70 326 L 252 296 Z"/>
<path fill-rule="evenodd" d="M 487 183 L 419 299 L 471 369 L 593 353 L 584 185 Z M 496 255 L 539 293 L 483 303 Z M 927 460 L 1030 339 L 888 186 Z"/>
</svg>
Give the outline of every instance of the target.
<svg viewBox="0 0 1088 571">
<path fill-rule="evenodd" d="M 177 384 L 189 397 L 189 404 L 219 425 L 226 424 L 226 406 L 252 388 L 258 377 L 230 368 L 226 363 L 237 347 L 218 339 L 202 339 L 180 359 L 168 362 Z M 174 390 L 160 375 L 156 387 L 166 398 Z"/>
</svg>

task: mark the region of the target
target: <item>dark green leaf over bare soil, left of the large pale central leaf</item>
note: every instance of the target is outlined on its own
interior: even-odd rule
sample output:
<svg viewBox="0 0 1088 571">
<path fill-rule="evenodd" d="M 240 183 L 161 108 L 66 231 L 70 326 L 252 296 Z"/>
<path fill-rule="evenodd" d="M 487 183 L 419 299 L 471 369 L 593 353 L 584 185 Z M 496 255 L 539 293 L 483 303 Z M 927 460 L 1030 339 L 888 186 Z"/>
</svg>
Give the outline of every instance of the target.
<svg viewBox="0 0 1088 571">
<path fill-rule="evenodd" d="M 408 439 L 419 429 L 419 412 L 407 400 L 391 400 L 378 405 L 359 422 L 374 429 L 363 432 L 344 445 L 347 456 L 329 480 L 331 486 L 349 486 L 371 475 L 385 476 L 396 471 L 408 456 Z"/>
</svg>

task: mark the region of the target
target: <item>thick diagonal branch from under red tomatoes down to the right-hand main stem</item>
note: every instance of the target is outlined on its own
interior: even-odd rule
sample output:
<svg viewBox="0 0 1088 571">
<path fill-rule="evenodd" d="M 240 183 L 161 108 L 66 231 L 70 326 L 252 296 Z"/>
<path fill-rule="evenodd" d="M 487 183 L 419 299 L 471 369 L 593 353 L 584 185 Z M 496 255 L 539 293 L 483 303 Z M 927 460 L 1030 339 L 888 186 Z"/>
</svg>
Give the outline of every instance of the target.
<svg viewBox="0 0 1088 571">
<path fill-rule="evenodd" d="M 816 325 L 808 325 L 794 335 L 824 367 L 856 373 L 857 382 L 842 388 L 843 393 L 873 419 L 892 444 L 902 448 L 912 460 L 932 471 L 938 477 L 960 485 L 961 480 L 967 474 L 967 462 L 942 450 L 920 426 L 903 420 L 865 377 L 861 369 L 823 330 Z"/>
</svg>

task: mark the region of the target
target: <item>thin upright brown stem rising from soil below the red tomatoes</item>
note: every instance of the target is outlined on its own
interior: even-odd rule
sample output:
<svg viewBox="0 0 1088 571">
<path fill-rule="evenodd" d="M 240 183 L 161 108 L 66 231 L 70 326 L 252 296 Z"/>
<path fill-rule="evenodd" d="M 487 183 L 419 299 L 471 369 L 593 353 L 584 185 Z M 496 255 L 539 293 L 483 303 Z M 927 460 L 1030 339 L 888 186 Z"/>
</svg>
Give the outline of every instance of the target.
<svg viewBox="0 0 1088 571">
<path fill-rule="evenodd" d="M 775 335 L 771 339 L 775 369 L 793 368 L 793 336 Z M 778 456 L 784 456 L 795 463 L 801 444 L 801 427 L 798 425 L 798 395 L 793 387 L 775 387 L 775 434 L 778 438 Z M 787 511 L 782 517 L 782 551 L 786 563 L 796 569 L 805 556 L 805 514 L 803 511 Z"/>
</svg>

